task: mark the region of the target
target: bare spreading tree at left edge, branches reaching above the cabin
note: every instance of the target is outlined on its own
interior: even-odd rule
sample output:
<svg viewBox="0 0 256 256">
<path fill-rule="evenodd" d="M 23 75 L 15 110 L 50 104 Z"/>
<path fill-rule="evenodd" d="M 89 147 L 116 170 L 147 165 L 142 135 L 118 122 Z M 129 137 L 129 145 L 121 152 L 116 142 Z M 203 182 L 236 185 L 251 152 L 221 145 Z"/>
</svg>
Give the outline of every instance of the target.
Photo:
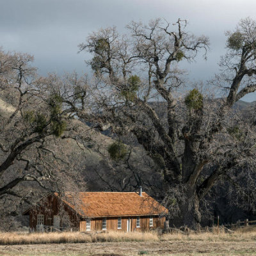
<svg viewBox="0 0 256 256">
<path fill-rule="evenodd" d="M 10 204 L 14 198 L 29 203 L 35 184 L 47 193 L 75 189 L 81 166 L 61 149 L 72 140 L 83 152 L 90 140 L 88 127 L 65 111 L 67 79 L 38 77 L 32 61 L 29 54 L 0 51 L 0 199 Z"/>
</svg>

